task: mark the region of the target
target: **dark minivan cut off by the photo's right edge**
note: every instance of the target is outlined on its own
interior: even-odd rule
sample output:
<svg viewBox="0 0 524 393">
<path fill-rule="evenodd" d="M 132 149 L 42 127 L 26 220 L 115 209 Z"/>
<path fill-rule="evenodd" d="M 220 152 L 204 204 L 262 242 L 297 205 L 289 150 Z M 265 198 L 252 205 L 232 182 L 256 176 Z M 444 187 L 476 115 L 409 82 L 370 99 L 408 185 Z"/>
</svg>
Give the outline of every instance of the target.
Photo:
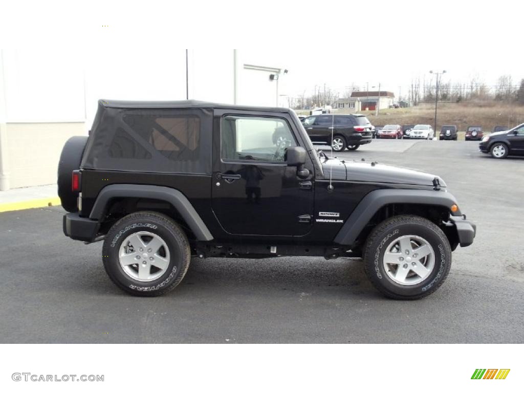
<svg viewBox="0 0 524 393">
<path fill-rule="evenodd" d="M 494 158 L 524 155 L 524 123 L 509 130 L 486 135 L 478 148 L 483 153 L 490 153 Z"/>
</svg>

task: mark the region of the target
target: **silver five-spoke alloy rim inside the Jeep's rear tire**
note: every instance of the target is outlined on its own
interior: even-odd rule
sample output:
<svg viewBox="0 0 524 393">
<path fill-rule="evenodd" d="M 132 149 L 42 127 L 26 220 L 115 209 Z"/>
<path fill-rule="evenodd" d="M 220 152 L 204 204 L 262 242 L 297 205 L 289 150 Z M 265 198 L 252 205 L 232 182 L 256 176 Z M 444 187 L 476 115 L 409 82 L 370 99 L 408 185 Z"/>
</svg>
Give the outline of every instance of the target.
<svg viewBox="0 0 524 393">
<path fill-rule="evenodd" d="M 135 232 L 122 242 L 118 260 L 130 278 L 153 281 L 161 277 L 169 266 L 169 248 L 155 233 Z"/>
</svg>

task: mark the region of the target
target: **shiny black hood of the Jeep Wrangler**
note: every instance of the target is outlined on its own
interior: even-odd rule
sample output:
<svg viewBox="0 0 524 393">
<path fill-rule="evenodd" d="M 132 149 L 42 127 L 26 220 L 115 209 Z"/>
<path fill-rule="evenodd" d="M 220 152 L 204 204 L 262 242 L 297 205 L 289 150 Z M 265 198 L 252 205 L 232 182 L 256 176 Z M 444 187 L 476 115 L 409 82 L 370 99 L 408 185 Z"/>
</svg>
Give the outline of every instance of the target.
<svg viewBox="0 0 524 393">
<path fill-rule="evenodd" d="M 322 168 L 325 179 L 329 179 L 331 173 L 333 180 L 425 185 L 433 187 L 433 179 L 437 178 L 440 186 L 446 187 L 444 181 L 434 174 L 380 163 L 372 165 L 370 161 L 330 159 L 323 163 Z"/>
</svg>

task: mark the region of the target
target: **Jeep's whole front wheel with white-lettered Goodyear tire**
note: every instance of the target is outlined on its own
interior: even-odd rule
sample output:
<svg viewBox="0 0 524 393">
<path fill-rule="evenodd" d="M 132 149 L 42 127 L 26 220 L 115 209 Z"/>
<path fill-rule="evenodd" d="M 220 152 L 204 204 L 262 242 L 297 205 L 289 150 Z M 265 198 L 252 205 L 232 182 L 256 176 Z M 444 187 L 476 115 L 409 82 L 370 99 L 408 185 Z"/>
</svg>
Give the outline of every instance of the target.
<svg viewBox="0 0 524 393">
<path fill-rule="evenodd" d="M 392 217 L 369 234 L 364 267 L 373 285 L 392 299 L 421 299 L 437 290 L 451 268 L 441 228 L 416 215 Z"/>
</svg>

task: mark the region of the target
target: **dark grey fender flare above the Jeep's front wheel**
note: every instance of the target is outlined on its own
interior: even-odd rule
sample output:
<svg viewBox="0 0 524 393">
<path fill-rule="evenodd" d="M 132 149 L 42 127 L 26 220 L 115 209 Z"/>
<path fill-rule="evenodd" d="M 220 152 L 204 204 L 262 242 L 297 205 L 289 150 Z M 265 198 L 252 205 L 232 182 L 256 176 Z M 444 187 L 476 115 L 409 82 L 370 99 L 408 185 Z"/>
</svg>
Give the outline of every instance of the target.
<svg viewBox="0 0 524 393">
<path fill-rule="evenodd" d="M 392 203 L 409 203 L 419 205 L 436 205 L 450 209 L 452 205 L 458 205 L 455 197 L 449 192 L 433 190 L 409 190 L 409 189 L 385 189 L 369 192 L 360 201 L 346 220 L 334 242 L 337 244 L 352 246 L 358 235 L 375 213 L 385 205 Z M 460 209 L 454 216 L 461 216 Z"/>
</svg>

